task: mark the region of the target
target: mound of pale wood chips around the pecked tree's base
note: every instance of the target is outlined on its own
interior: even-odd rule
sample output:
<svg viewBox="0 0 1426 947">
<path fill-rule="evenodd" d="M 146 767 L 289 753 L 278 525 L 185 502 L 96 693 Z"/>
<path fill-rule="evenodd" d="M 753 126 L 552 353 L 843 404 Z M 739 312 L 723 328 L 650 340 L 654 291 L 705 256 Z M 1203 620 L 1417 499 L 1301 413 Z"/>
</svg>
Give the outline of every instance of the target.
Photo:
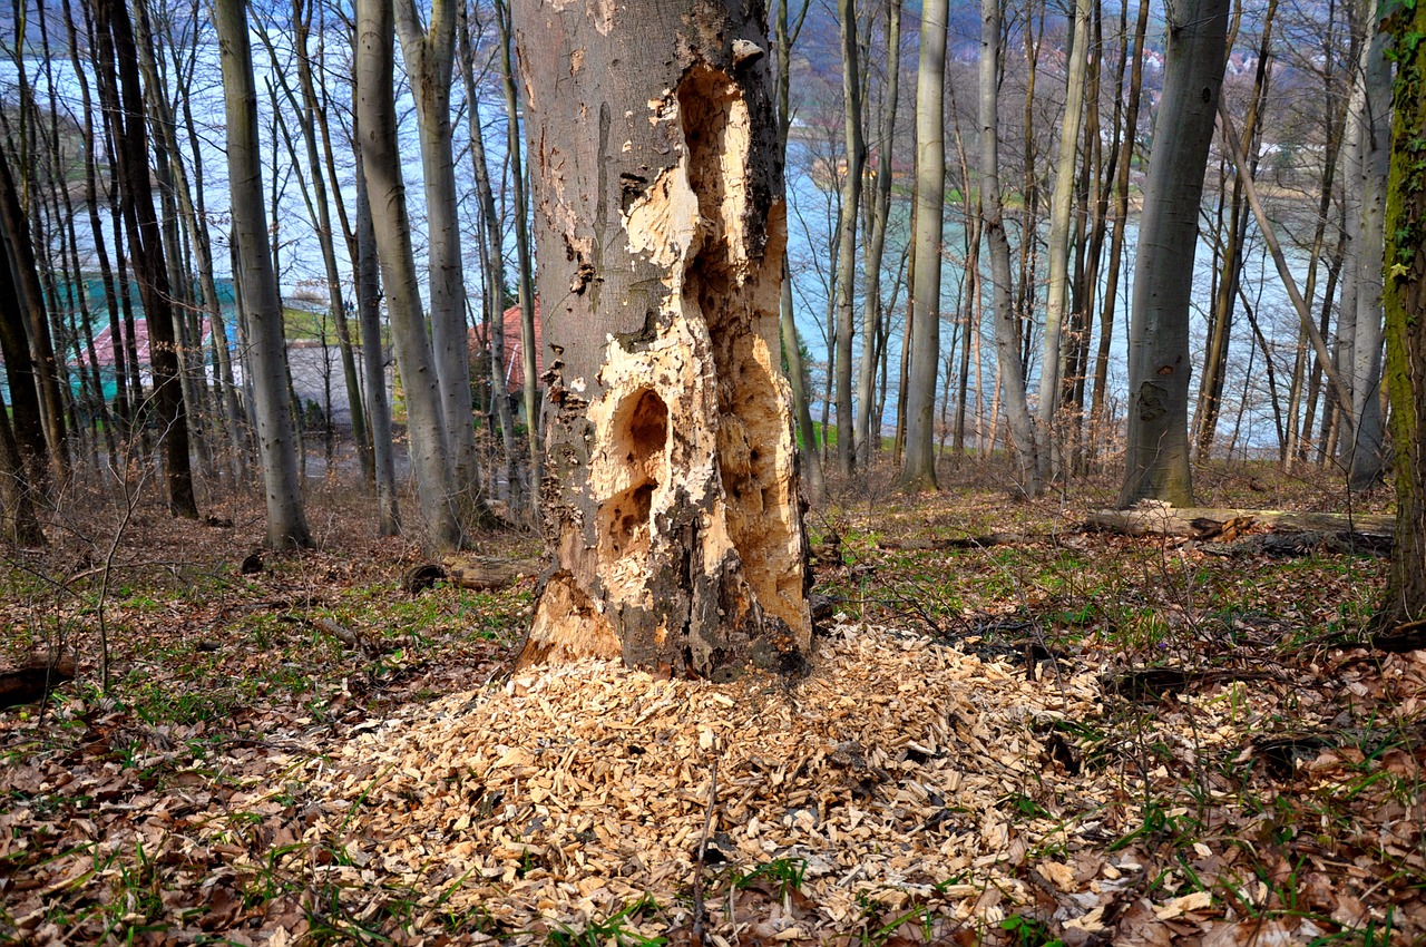
<svg viewBox="0 0 1426 947">
<path fill-rule="evenodd" d="M 689 921 L 712 794 L 710 943 L 827 943 L 907 904 L 984 930 L 1034 900 L 1027 877 L 1091 881 L 1064 854 L 1078 847 L 1067 821 L 1082 827 L 1125 776 L 1081 777 L 1067 799 L 1037 734 L 1097 713 L 1097 679 L 1028 680 L 868 628 L 819 640 L 813 667 L 712 685 L 585 662 L 405 712 L 307 764 L 325 813 L 308 834 L 349 856 L 317 870 L 354 897 L 399 881 L 428 893 L 418 910 L 479 906 L 505 938 L 652 896 L 663 917 L 642 933 L 666 934 Z M 800 907 L 750 931 L 719 899 L 779 860 L 804 864 Z"/>
</svg>

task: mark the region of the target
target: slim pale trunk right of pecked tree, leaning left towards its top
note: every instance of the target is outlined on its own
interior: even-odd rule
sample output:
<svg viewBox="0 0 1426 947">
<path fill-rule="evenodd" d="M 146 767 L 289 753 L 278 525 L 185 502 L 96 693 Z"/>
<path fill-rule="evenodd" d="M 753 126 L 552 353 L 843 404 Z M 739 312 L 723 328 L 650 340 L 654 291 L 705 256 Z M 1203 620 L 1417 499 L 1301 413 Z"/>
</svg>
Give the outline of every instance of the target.
<svg viewBox="0 0 1426 947">
<path fill-rule="evenodd" d="M 1030 404 L 1025 398 L 1025 372 L 1020 361 L 1020 329 L 1011 307 L 1010 240 L 1005 237 L 1000 198 L 1000 0 L 981 0 L 980 187 L 983 230 L 990 244 L 995 364 L 1011 441 L 1014 442 L 1021 489 L 1030 496 L 1038 496 L 1042 489 L 1040 448 L 1035 439 L 1035 422 L 1030 416 Z M 1031 240 L 1031 235 L 1025 234 L 1025 240 Z M 994 429 L 994 422 L 991 428 Z"/>
</svg>

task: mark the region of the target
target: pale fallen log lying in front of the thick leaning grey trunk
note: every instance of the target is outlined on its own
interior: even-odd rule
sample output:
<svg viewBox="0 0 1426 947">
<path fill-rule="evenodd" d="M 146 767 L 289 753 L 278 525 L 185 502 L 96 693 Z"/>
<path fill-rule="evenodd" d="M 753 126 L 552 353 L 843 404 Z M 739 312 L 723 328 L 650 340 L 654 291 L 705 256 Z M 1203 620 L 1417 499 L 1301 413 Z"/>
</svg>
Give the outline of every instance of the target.
<svg viewBox="0 0 1426 947">
<path fill-rule="evenodd" d="M 1097 509 L 1089 513 L 1085 523 L 1087 529 L 1105 529 L 1129 536 L 1191 539 L 1222 539 L 1225 532 L 1238 535 L 1253 526 L 1272 532 L 1330 532 L 1389 539 L 1396 532 L 1396 518 L 1376 513 L 1305 513 L 1289 509 L 1214 509 L 1139 503 L 1129 509 Z"/>
</svg>

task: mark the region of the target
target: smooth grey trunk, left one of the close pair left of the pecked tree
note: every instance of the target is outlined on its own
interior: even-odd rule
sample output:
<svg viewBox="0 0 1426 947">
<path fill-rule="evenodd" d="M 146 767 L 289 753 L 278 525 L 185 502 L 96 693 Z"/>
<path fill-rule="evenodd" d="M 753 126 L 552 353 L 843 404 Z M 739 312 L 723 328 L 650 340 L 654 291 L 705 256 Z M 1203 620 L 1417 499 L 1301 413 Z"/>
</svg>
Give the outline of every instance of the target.
<svg viewBox="0 0 1426 947">
<path fill-rule="evenodd" d="M 429 541 L 438 549 L 455 549 L 465 538 L 452 502 L 441 385 L 422 318 L 421 288 L 411 251 L 406 185 L 401 178 L 401 145 L 396 141 L 392 84 L 395 23 L 391 4 L 392 0 L 358 0 L 356 4 L 356 127 L 382 285 L 386 290 L 386 311 L 391 315 L 391 338 L 406 394 L 411 462 L 416 474 L 421 513 Z"/>
</svg>

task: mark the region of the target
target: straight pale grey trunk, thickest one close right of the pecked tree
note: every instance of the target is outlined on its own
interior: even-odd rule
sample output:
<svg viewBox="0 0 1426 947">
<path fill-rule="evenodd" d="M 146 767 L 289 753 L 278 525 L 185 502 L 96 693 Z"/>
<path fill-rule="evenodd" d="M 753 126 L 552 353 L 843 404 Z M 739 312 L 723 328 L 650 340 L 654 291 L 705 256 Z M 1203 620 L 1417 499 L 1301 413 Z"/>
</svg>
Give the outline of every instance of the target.
<svg viewBox="0 0 1426 947">
<path fill-rule="evenodd" d="M 921 7 L 915 78 L 915 317 L 907 344 L 906 465 L 901 489 L 935 489 L 935 369 L 941 361 L 941 240 L 945 211 L 945 0 Z"/>
</svg>

